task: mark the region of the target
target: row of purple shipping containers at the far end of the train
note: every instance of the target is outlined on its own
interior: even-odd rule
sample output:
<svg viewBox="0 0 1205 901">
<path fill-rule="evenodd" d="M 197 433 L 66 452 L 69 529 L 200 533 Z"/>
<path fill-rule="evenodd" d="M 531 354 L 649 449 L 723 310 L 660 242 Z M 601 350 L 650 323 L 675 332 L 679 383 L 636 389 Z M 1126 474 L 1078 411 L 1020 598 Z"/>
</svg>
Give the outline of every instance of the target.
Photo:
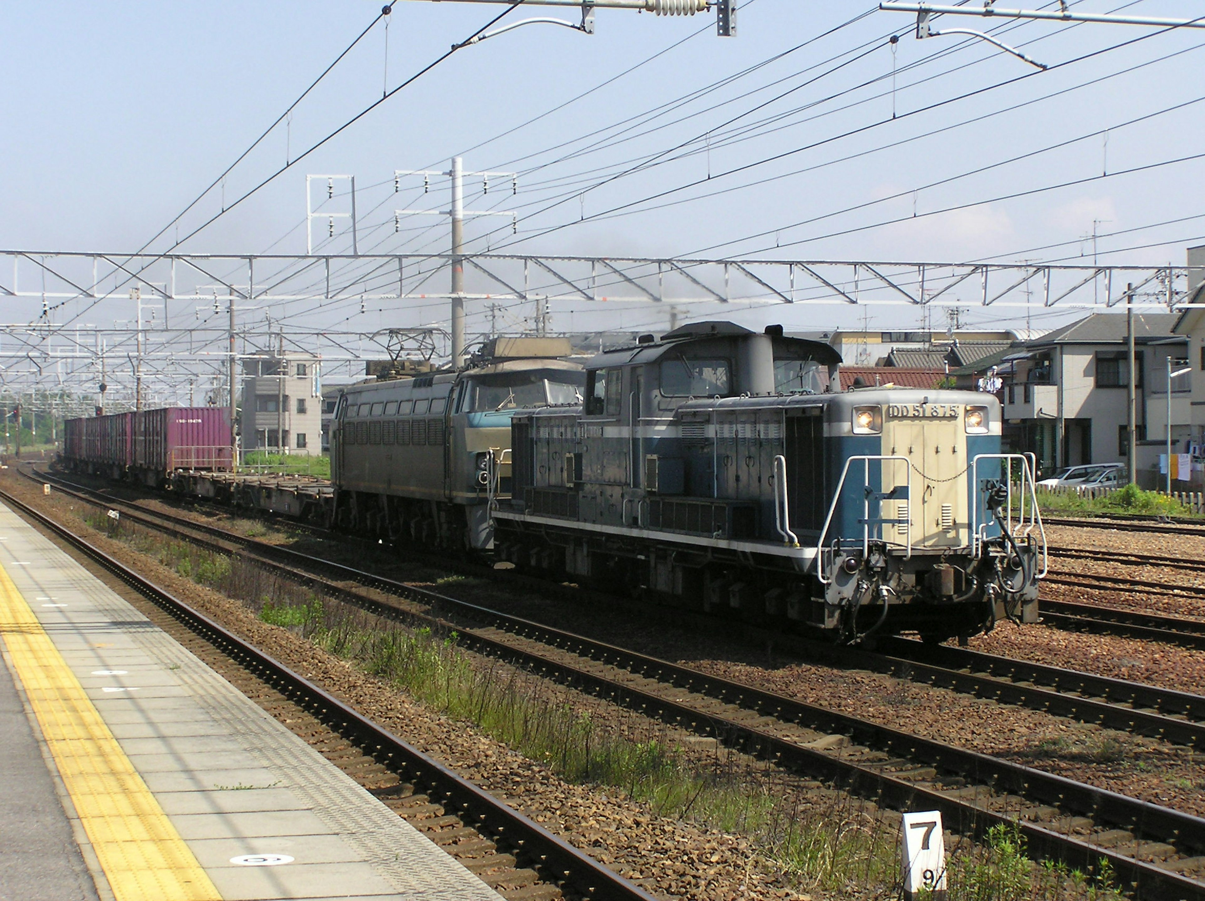
<svg viewBox="0 0 1205 901">
<path fill-rule="evenodd" d="M 166 407 L 67 419 L 63 461 L 76 472 L 166 485 L 177 471 L 229 472 L 230 411 Z"/>
</svg>

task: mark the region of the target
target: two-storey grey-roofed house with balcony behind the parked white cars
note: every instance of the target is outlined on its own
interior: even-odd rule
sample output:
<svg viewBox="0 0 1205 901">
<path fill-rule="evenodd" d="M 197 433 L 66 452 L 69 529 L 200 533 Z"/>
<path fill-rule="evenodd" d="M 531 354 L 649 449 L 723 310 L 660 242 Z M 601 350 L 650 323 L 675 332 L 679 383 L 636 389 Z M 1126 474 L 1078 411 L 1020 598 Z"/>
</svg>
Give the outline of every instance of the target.
<svg viewBox="0 0 1205 901">
<path fill-rule="evenodd" d="M 1158 483 L 1166 447 L 1166 358 L 1182 360 L 1187 342 L 1174 334 L 1175 313 L 1135 314 L 1139 483 Z M 1175 365 L 1175 363 L 1174 363 Z M 1129 365 L 1124 313 L 1094 313 L 1027 341 L 997 367 L 1011 449 L 1033 453 L 1050 472 L 1125 459 Z M 1189 379 L 1172 379 L 1172 441 L 1185 448 Z"/>
</svg>

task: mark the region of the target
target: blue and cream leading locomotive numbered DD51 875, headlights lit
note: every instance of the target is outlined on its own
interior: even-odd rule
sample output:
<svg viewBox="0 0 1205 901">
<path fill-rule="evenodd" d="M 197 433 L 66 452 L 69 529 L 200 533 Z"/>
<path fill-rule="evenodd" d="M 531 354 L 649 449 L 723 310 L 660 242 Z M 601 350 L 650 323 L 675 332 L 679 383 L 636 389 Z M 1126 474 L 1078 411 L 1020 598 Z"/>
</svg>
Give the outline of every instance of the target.
<svg viewBox="0 0 1205 901">
<path fill-rule="evenodd" d="M 511 419 L 495 553 L 521 569 L 847 642 L 1038 619 L 1045 538 L 995 398 L 837 391 L 828 344 L 696 323 Z"/>
</svg>

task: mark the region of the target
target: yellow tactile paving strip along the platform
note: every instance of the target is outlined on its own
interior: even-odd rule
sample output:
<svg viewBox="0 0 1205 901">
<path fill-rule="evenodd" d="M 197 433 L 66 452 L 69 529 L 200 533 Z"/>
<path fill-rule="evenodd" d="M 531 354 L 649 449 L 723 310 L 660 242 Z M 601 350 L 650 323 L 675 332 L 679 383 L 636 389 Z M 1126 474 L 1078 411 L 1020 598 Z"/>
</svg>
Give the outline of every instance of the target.
<svg viewBox="0 0 1205 901">
<path fill-rule="evenodd" d="M 222 901 L 2 566 L 0 636 L 117 901 Z"/>
</svg>

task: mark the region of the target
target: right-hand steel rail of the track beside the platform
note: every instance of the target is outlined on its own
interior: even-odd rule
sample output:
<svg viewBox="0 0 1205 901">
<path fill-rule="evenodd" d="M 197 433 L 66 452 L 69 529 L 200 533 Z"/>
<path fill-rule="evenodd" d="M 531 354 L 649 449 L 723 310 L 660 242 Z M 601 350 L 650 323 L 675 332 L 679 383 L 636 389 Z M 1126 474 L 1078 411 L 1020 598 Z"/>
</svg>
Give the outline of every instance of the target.
<svg viewBox="0 0 1205 901">
<path fill-rule="evenodd" d="M 275 660 L 249 642 L 240 638 L 205 614 L 159 588 L 149 579 L 106 554 L 100 548 L 72 534 L 46 514 L 0 490 L 5 504 L 19 510 L 82 550 L 135 590 L 154 601 L 235 659 L 249 665 L 261 678 L 268 677 L 296 703 L 310 709 L 340 734 L 354 737 L 366 753 L 395 768 L 399 776 L 433 800 L 440 799 L 447 809 L 455 811 L 466 824 L 494 836 L 530 864 L 551 882 L 572 887 L 588 899 L 613 901 L 653 901 L 643 889 L 612 872 L 589 855 L 515 811 L 509 805 L 478 788 L 434 758 L 423 754 L 408 742 L 363 716 L 347 703 Z"/>
</svg>

